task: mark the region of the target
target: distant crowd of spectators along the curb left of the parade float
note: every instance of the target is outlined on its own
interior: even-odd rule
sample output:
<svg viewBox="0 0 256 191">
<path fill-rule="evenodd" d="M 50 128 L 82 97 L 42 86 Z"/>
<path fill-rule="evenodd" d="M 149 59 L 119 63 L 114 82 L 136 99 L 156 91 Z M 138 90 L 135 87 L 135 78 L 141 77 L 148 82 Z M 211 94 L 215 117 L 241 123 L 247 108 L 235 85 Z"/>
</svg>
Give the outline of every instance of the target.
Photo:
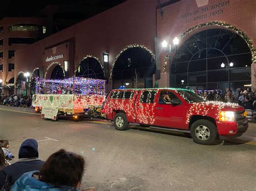
<svg viewBox="0 0 256 191">
<path fill-rule="evenodd" d="M 0 95 L 0 105 L 8 105 L 14 107 L 31 107 L 32 99 L 31 96 L 23 95 L 11 95 L 5 96 Z"/>
</svg>

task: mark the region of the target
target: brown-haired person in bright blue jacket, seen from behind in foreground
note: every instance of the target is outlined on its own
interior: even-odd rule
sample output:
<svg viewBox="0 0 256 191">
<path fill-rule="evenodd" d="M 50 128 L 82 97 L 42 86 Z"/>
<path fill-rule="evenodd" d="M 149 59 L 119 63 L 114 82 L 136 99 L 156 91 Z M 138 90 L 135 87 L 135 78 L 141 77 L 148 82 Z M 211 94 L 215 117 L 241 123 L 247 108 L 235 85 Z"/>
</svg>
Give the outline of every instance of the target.
<svg viewBox="0 0 256 191">
<path fill-rule="evenodd" d="M 80 190 L 84 165 L 82 156 L 61 149 L 50 155 L 40 171 L 23 174 L 11 190 Z"/>
</svg>

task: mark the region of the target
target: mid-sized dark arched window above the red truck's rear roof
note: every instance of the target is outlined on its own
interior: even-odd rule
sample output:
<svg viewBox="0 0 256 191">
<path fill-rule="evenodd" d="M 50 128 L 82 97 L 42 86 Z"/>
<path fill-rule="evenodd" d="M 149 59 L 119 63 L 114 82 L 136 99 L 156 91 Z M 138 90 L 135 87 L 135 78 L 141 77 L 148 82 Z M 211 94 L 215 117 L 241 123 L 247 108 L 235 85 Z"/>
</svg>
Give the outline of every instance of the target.
<svg viewBox="0 0 256 191">
<path fill-rule="evenodd" d="M 130 45 L 117 56 L 110 71 L 113 88 L 152 88 L 156 72 L 155 56 L 141 45 Z"/>
</svg>

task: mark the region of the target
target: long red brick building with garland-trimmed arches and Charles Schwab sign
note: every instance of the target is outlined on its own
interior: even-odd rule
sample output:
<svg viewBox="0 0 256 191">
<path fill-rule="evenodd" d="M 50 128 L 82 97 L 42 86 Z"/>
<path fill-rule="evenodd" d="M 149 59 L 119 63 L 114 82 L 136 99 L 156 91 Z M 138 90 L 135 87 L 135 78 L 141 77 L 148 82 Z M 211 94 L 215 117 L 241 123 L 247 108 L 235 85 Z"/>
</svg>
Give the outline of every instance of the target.
<svg viewBox="0 0 256 191">
<path fill-rule="evenodd" d="M 107 80 L 107 89 L 255 88 L 255 1 L 127 0 L 26 46 L 14 76 Z M 174 46 L 172 39 L 179 44 Z M 162 47 L 166 40 L 167 47 Z"/>
</svg>

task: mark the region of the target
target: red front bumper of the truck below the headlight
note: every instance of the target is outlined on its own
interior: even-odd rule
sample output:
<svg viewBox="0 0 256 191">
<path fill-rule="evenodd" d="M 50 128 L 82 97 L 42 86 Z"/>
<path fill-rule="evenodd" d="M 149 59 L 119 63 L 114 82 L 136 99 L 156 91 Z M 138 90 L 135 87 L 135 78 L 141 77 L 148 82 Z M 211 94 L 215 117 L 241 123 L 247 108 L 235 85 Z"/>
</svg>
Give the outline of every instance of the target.
<svg viewBox="0 0 256 191">
<path fill-rule="evenodd" d="M 220 136 L 241 135 L 248 129 L 247 121 L 240 124 L 237 122 L 216 122 L 216 125 Z"/>
</svg>

